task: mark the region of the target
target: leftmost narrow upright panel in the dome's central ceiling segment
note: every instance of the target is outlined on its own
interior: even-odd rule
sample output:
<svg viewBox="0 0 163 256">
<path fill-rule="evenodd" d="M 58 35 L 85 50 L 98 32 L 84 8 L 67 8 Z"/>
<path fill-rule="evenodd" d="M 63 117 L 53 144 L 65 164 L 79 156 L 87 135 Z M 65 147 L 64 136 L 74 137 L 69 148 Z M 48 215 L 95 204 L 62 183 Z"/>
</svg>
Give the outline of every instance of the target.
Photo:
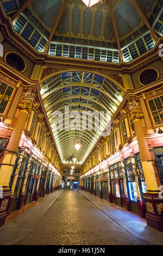
<svg viewBox="0 0 163 256">
<path fill-rule="evenodd" d="M 80 26 L 80 9 L 79 7 L 74 7 L 72 10 L 72 33 L 77 35 L 79 33 Z"/>
</svg>

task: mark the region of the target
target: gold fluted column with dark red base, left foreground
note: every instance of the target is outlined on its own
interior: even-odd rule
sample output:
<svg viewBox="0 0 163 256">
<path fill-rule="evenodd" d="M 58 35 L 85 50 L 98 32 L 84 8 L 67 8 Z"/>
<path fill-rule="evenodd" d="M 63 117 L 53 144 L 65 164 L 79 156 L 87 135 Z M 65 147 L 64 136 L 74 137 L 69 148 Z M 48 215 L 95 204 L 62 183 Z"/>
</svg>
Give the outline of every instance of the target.
<svg viewBox="0 0 163 256">
<path fill-rule="evenodd" d="M 12 207 L 13 196 L 12 191 L 9 188 L 10 177 L 12 170 L 15 166 L 15 160 L 17 157 L 18 146 L 20 144 L 24 125 L 26 124 L 27 115 L 32 111 L 32 102 L 34 101 L 34 94 L 32 90 L 28 91 L 21 103 L 18 103 L 20 113 L 12 132 L 8 148 L 5 151 L 4 159 L 0 168 L 0 193 L 3 197 L 0 198 L 0 227 L 4 224 L 5 218 L 9 215 Z"/>
</svg>

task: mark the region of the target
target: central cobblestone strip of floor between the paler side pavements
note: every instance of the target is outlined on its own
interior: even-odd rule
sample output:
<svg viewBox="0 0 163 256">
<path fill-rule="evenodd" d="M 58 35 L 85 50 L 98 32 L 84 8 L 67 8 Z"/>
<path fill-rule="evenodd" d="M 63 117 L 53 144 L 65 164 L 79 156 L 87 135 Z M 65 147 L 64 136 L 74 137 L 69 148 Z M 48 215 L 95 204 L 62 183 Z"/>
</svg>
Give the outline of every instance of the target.
<svg viewBox="0 0 163 256">
<path fill-rule="evenodd" d="M 17 245 L 148 245 L 112 221 L 78 191 L 64 190 Z"/>
</svg>

